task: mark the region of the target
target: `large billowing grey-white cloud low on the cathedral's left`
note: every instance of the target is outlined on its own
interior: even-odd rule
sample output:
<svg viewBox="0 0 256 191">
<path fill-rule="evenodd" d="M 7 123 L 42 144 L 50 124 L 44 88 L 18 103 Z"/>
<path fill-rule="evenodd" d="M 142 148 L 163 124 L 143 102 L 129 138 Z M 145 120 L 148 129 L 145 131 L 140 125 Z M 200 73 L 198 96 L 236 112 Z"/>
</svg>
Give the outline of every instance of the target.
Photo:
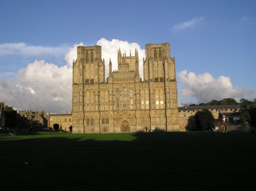
<svg viewBox="0 0 256 191">
<path fill-rule="evenodd" d="M 18 110 L 71 111 L 72 68 L 35 60 L 20 69 L 15 84 L 0 79 L 3 101 Z"/>
</svg>

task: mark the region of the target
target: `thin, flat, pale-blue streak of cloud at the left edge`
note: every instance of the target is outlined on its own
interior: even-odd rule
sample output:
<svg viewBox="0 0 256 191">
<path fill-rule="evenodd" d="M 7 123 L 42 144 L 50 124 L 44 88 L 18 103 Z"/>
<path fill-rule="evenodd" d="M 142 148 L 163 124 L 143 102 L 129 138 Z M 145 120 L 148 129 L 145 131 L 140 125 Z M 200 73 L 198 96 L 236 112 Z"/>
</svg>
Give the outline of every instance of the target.
<svg viewBox="0 0 256 191">
<path fill-rule="evenodd" d="M 33 46 L 26 43 L 4 43 L 0 44 L 0 56 L 21 55 L 21 56 L 39 56 L 39 55 L 64 55 L 68 47 L 56 46 Z"/>
</svg>

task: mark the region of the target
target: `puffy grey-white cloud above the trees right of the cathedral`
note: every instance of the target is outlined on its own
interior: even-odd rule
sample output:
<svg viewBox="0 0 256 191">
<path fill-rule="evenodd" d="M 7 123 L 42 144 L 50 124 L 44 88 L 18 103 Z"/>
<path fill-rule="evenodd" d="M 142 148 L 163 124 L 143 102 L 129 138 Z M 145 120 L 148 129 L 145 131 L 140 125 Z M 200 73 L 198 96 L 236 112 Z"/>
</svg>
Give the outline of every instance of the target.
<svg viewBox="0 0 256 191">
<path fill-rule="evenodd" d="M 241 98 L 252 98 L 255 92 L 246 88 L 233 88 L 230 78 L 220 76 L 218 79 L 209 73 L 196 75 L 182 70 L 178 74 L 180 83 L 183 85 L 181 93 L 186 97 L 193 97 L 198 103 L 206 103 L 211 100 L 233 98 L 239 101 Z"/>
</svg>

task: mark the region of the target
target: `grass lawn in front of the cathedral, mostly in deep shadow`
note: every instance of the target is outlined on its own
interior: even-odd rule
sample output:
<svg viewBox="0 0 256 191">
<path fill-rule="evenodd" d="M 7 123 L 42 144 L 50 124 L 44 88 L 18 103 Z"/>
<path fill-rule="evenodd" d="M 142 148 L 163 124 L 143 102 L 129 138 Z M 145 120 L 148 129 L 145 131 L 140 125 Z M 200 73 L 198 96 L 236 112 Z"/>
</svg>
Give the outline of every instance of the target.
<svg viewBox="0 0 256 191">
<path fill-rule="evenodd" d="M 255 133 L 0 134 L 0 190 L 255 190 L 255 157 Z"/>
</svg>

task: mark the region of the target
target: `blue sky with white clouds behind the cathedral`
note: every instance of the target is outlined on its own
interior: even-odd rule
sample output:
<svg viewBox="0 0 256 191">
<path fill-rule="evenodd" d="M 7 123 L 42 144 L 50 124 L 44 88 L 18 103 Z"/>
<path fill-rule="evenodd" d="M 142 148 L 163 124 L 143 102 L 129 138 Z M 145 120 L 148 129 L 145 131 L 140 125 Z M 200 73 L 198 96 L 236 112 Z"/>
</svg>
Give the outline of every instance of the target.
<svg viewBox="0 0 256 191">
<path fill-rule="evenodd" d="M 117 50 L 170 43 L 179 106 L 256 98 L 256 1 L 0 2 L 0 102 L 17 110 L 71 112 L 77 45 Z"/>
</svg>

